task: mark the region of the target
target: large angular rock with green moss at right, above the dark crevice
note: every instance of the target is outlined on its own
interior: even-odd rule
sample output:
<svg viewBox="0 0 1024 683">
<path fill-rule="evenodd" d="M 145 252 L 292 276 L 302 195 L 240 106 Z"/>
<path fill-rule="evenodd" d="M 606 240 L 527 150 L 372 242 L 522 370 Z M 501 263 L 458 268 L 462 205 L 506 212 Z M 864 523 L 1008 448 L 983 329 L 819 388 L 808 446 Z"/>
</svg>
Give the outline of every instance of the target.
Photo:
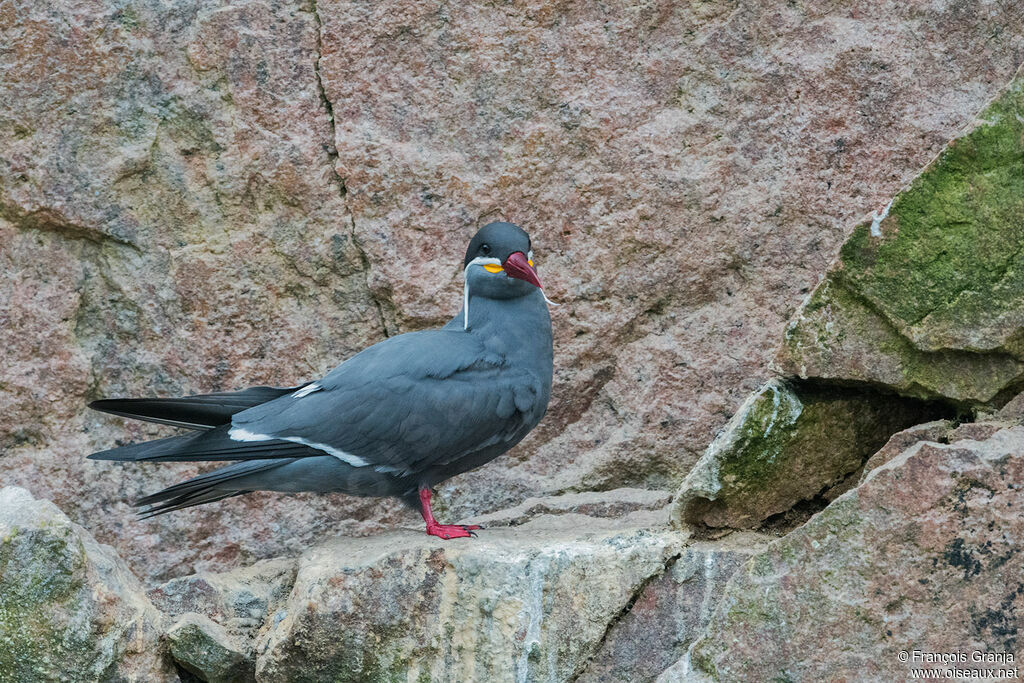
<svg viewBox="0 0 1024 683">
<path fill-rule="evenodd" d="M 783 371 L 973 403 L 1019 388 L 1024 77 L 979 119 L 854 230 L 786 329 Z"/>
</svg>

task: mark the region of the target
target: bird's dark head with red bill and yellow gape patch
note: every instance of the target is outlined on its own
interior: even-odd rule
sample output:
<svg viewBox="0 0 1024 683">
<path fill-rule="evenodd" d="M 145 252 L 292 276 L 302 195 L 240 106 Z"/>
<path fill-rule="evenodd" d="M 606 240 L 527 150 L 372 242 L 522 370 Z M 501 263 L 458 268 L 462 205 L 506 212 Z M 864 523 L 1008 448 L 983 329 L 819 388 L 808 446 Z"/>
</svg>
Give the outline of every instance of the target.
<svg viewBox="0 0 1024 683">
<path fill-rule="evenodd" d="M 536 292 L 541 279 L 526 230 L 512 223 L 481 227 L 466 250 L 467 294 L 489 299 L 513 299 Z"/>
</svg>

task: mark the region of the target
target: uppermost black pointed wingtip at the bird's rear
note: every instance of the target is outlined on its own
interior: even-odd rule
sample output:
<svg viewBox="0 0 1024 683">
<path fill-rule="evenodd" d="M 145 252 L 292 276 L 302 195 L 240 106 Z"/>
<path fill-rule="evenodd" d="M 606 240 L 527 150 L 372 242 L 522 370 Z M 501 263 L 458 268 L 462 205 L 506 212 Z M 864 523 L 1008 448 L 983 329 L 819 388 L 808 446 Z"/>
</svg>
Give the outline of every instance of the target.
<svg viewBox="0 0 1024 683">
<path fill-rule="evenodd" d="M 102 398 L 89 403 L 100 413 L 187 429 L 212 429 L 231 421 L 236 413 L 280 398 L 302 388 L 252 387 L 244 391 L 205 393 L 182 398 Z"/>
</svg>

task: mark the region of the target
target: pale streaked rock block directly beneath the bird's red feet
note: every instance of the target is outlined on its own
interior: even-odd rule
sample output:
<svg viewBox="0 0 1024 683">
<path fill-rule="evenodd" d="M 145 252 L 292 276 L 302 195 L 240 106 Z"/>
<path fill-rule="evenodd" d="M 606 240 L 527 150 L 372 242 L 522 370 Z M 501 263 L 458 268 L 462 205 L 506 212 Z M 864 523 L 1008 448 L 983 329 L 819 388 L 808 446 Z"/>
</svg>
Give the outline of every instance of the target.
<svg viewBox="0 0 1024 683">
<path fill-rule="evenodd" d="M 562 681 L 685 537 L 487 530 L 338 540 L 311 551 L 257 650 L 267 680 Z"/>
</svg>

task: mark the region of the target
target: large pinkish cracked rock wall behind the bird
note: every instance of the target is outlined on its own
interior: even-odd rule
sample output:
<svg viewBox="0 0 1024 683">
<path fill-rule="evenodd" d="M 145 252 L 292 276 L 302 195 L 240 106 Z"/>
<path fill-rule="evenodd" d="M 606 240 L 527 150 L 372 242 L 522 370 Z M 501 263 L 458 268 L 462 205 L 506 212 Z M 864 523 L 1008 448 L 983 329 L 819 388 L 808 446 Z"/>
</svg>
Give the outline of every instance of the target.
<svg viewBox="0 0 1024 683">
<path fill-rule="evenodd" d="M 674 488 L 766 378 L 845 226 L 1024 59 L 1015 0 L 0 7 L 0 467 L 154 585 L 413 521 L 82 456 L 165 430 L 89 398 L 291 384 L 455 312 L 465 241 L 528 227 L 556 394 L 451 518 Z"/>
</svg>

